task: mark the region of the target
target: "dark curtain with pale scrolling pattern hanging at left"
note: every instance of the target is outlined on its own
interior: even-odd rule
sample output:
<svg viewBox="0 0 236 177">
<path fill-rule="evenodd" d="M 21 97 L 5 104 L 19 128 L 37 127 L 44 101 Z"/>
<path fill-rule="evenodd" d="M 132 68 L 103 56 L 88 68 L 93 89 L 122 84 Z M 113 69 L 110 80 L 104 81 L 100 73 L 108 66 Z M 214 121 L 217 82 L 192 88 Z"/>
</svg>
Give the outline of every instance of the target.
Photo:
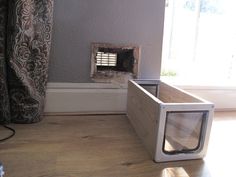
<svg viewBox="0 0 236 177">
<path fill-rule="evenodd" d="M 42 119 L 53 0 L 0 0 L 0 123 Z"/>
</svg>

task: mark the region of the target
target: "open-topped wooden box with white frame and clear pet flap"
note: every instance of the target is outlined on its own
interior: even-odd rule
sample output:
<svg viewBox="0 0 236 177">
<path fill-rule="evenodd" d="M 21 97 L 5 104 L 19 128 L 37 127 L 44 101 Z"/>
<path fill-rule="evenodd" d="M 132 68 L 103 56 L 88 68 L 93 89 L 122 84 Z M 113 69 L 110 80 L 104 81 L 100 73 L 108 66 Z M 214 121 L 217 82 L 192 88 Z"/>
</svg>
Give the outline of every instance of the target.
<svg viewBox="0 0 236 177">
<path fill-rule="evenodd" d="M 156 162 L 203 158 L 214 105 L 160 80 L 130 80 L 127 116 Z"/>
</svg>

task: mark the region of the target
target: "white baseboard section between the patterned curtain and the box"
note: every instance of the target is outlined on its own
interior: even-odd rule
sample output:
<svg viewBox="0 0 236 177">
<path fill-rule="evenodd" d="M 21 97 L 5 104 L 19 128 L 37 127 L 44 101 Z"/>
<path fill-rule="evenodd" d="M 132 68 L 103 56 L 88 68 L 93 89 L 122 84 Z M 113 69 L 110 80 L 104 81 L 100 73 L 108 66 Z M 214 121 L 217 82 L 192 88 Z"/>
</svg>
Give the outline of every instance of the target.
<svg viewBox="0 0 236 177">
<path fill-rule="evenodd" d="M 127 88 L 100 83 L 49 83 L 45 114 L 125 113 Z"/>
</svg>

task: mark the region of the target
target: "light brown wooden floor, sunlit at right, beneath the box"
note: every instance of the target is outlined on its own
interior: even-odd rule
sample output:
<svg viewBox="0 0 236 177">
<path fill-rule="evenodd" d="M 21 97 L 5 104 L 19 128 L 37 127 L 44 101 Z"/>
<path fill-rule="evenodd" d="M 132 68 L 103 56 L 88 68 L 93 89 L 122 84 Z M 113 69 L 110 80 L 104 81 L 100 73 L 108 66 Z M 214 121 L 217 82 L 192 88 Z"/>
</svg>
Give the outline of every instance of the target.
<svg viewBox="0 0 236 177">
<path fill-rule="evenodd" d="M 236 176 L 236 112 L 215 114 L 204 160 L 158 164 L 125 115 L 47 116 L 12 127 L 16 136 L 0 144 L 4 177 Z"/>
</svg>

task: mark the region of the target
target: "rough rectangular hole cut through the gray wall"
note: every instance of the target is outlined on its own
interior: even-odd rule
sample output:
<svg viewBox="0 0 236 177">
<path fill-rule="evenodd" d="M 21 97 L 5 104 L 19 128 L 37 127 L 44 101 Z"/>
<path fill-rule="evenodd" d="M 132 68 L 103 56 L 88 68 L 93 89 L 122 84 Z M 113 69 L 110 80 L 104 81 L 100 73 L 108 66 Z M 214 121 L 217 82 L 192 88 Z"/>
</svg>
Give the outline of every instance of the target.
<svg viewBox="0 0 236 177">
<path fill-rule="evenodd" d="M 138 46 L 93 43 L 91 78 L 105 83 L 127 83 L 129 79 L 136 79 L 139 53 Z"/>
</svg>

